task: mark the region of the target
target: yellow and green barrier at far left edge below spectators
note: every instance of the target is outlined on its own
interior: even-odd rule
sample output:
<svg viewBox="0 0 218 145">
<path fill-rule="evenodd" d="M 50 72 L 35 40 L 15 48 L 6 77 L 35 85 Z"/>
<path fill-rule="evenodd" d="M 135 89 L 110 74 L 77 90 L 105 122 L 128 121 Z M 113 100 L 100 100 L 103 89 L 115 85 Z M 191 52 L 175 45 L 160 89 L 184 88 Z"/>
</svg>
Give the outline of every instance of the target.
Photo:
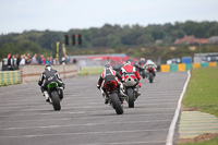
<svg viewBox="0 0 218 145">
<path fill-rule="evenodd" d="M 3 71 L 0 72 L 0 86 L 21 83 L 20 71 Z"/>
</svg>

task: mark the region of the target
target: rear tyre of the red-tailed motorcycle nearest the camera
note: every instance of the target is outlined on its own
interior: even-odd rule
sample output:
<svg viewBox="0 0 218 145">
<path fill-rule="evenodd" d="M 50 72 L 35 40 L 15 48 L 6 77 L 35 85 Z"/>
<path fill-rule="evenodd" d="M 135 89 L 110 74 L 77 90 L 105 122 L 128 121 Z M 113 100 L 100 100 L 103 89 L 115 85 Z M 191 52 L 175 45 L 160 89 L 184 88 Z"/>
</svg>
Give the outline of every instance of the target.
<svg viewBox="0 0 218 145">
<path fill-rule="evenodd" d="M 112 107 L 116 110 L 117 114 L 122 114 L 123 108 L 121 106 L 118 94 L 113 93 L 113 94 L 110 95 L 110 97 L 111 97 L 111 101 L 112 101 Z"/>
</svg>

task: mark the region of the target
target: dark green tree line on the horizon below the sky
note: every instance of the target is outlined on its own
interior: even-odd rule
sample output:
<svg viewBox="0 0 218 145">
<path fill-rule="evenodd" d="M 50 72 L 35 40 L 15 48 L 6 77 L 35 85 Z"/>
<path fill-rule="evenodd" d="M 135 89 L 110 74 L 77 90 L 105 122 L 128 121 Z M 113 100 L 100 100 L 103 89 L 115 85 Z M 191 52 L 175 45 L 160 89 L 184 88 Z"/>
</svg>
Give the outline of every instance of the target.
<svg viewBox="0 0 218 145">
<path fill-rule="evenodd" d="M 71 36 L 73 34 L 82 35 L 82 45 L 72 45 Z M 161 46 L 166 47 L 172 46 L 177 38 L 182 38 L 184 35 L 194 35 L 196 38 L 218 36 L 218 22 L 186 21 L 147 26 L 105 24 L 102 27 L 72 28 L 68 32 L 47 29 L 2 34 L 0 36 L 0 58 L 5 58 L 8 53 L 45 53 L 50 56 L 55 53 L 56 41 L 64 43 L 64 35 L 69 35 L 70 45 L 66 49 L 70 55 L 120 51 L 125 53 L 125 50 L 138 48 L 149 48 L 149 51 L 156 51 L 156 40 L 161 40 Z M 132 55 L 141 57 L 141 52 Z"/>
</svg>

